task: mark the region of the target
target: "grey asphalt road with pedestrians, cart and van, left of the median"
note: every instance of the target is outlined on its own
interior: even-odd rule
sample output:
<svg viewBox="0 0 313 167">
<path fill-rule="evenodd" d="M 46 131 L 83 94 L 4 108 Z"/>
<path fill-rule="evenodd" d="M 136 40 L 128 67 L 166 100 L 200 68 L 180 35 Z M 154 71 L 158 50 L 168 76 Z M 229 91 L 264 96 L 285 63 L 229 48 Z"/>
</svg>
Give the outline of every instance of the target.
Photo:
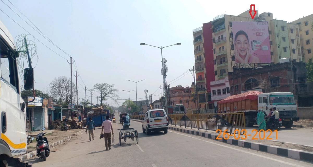
<svg viewBox="0 0 313 167">
<path fill-rule="evenodd" d="M 118 116 L 116 116 L 118 118 Z M 118 119 L 117 119 L 118 120 Z M 310 163 L 245 149 L 226 143 L 188 135 L 172 130 L 147 136 L 141 123 L 131 121 L 139 131 L 139 143 L 127 139 L 118 144 L 121 124 L 114 123 L 115 143 L 105 151 L 104 139 L 99 139 L 101 129 L 95 130 L 95 140 L 87 134 L 68 142 L 46 161 L 29 160 L 34 167 L 41 166 L 312 166 Z M 49 138 L 48 138 L 49 140 Z"/>
</svg>

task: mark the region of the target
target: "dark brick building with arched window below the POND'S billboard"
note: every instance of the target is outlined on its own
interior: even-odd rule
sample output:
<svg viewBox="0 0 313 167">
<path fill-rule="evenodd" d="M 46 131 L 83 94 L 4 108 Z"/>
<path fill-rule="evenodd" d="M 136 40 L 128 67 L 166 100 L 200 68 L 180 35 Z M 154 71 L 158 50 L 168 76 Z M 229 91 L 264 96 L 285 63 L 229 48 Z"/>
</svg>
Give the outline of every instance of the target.
<svg viewBox="0 0 313 167">
<path fill-rule="evenodd" d="M 292 62 L 263 68 L 234 68 L 229 72 L 231 95 L 261 89 L 266 92 L 292 92 L 298 106 L 313 106 L 313 84 L 305 83 L 305 63 Z"/>
</svg>

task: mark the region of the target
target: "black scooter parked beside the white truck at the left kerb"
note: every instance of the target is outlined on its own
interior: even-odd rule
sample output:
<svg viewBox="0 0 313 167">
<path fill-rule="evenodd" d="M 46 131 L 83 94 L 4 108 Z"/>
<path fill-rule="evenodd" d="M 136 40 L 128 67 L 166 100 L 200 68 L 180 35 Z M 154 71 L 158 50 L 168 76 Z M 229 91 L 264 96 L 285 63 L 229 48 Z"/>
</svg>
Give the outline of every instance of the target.
<svg viewBox="0 0 313 167">
<path fill-rule="evenodd" d="M 46 160 L 46 157 L 49 157 L 50 155 L 50 149 L 49 149 L 49 143 L 46 137 L 43 137 L 44 134 L 46 134 L 47 132 L 43 133 L 42 131 L 44 131 L 45 128 L 42 128 L 41 133 L 39 133 L 36 137 L 36 141 L 37 141 L 37 156 L 40 158 L 42 158 L 44 161 Z"/>
</svg>

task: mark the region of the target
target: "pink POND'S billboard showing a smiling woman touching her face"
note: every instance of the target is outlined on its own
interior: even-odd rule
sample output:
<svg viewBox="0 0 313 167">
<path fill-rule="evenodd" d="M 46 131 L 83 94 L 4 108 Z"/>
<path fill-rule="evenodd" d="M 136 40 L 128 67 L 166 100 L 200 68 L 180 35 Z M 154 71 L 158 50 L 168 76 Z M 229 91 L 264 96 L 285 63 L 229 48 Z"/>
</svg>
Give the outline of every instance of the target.
<svg viewBox="0 0 313 167">
<path fill-rule="evenodd" d="M 271 63 L 268 22 L 232 22 L 235 63 Z"/>
</svg>

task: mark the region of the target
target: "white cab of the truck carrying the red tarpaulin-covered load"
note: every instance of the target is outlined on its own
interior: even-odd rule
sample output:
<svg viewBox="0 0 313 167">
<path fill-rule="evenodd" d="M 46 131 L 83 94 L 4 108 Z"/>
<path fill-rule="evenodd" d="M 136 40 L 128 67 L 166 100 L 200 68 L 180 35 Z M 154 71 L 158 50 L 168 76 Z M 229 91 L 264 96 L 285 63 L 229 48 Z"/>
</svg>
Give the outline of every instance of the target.
<svg viewBox="0 0 313 167">
<path fill-rule="evenodd" d="M 282 119 L 282 125 L 286 128 L 291 128 L 293 121 L 299 120 L 293 93 L 273 92 L 259 94 L 258 110 L 263 110 L 266 114 L 269 114 L 269 109 L 273 107 L 276 107 L 276 110 L 279 112 L 279 118 Z"/>
</svg>

